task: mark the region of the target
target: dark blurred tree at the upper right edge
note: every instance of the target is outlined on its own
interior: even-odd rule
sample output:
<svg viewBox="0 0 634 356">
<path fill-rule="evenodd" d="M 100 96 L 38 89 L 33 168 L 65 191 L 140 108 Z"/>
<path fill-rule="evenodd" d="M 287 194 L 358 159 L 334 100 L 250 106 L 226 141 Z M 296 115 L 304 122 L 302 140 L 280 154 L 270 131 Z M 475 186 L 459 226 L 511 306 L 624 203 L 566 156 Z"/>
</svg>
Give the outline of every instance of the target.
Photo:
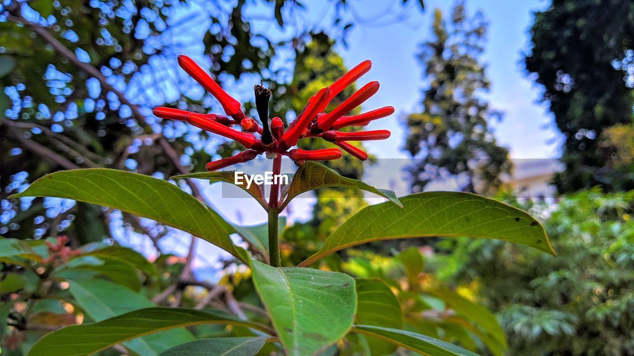
<svg viewBox="0 0 634 356">
<path fill-rule="evenodd" d="M 530 33 L 526 70 L 543 86 L 565 139 L 559 191 L 634 188 L 630 175 L 614 184 L 618 174 L 605 167 L 611 151 L 600 147 L 607 127 L 634 118 L 634 3 L 553 0 L 535 13 Z"/>
</svg>

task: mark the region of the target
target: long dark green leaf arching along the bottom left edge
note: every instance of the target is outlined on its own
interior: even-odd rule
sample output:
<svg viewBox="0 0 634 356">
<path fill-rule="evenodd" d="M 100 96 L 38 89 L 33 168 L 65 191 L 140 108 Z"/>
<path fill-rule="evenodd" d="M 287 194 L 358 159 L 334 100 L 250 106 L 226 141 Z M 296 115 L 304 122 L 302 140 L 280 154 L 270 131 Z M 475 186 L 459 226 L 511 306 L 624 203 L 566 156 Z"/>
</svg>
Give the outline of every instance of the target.
<svg viewBox="0 0 634 356">
<path fill-rule="evenodd" d="M 220 310 L 153 307 L 134 310 L 93 324 L 72 325 L 46 334 L 29 356 L 84 356 L 146 334 L 176 327 L 231 324 L 269 332 L 268 327 L 242 321 Z M 145 356 L 145 354 L 141 353 Z"/>
</svg>

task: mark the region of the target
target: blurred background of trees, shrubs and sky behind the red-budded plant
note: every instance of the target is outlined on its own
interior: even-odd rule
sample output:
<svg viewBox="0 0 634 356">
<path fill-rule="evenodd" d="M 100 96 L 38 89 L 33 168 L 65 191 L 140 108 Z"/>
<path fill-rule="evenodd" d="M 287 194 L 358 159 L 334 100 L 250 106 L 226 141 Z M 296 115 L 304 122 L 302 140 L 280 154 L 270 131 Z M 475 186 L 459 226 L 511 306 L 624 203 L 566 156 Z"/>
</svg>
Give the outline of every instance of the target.
<svg viewBox="0 0 634 356">
<path fill-rule="evenodd" d="M 378 80 L 381 88 L 361 111 L 394 106 L 371 126 L 392 137 L 364 143 L 367 162 L 345 156 L 327 165 L 399 195 L 453 189 L 521 207 L 544 222 L 559 256 L 500 241 L 410 239 L 359 246 L 321 267 L 385 274 L 411 251 L 420 270 L 394 283 L 414 292 L 441 284 L 485 305 L 507 336 L 508 355 L 634 355 L 631 1 L 4 0 L 1 236 L 133 248 L 164 272 L 143 287 L 148 298 L 164 298 L 158 303 L 200 302 L 205 291 L 197 289 L 161 294 L 185 277 L 199 287 L 231 286 L 236 293 L 223 302 L 244 296 L 246 272 L 204 241 L 84 203 L 7 198 L 57 170 L 108 167 L 169 179 L 233 155 L 234 143 L 152 115 L 160 105 L 221 113 L 178 67 L 179 54 L 251 112 L 252 86 L 263 82 L 273 91 L 271 110 L 286 122 L 318 89 L 372 60 L 358 85 Z M 266 220 L 231 188 L 174 184 L 236 224 Z M 378 201 L 349 189 L 295 200 L 286 212 L 285 263 L 318 250 L 347 217 Z M 3 276 L 10 272 L 3 264 Z M 477 329 L 456 327 L 462 321 L 432 296 L 424 302 L 429 308 L 412 312 L 412 328 L 503 353 Z M 37 337 L 9 327 L 5 350 L 20 355 Z"/>
</svg>

